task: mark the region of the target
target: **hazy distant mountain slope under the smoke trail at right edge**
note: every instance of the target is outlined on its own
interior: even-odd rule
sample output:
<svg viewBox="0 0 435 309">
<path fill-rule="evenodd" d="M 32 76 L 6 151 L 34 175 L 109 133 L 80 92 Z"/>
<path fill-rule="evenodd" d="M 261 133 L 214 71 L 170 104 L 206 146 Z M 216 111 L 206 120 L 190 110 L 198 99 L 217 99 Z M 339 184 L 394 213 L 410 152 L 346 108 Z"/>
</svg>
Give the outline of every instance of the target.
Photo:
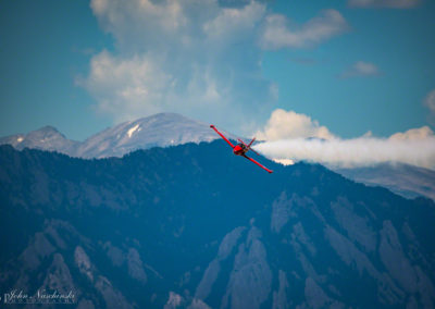
<svg viewBox="0 0 435 309">
<path fill-rule="evenodd" d="M 408 198 L 425 196 L 435 200 L 435 171 L 402 163 L 383 163 L 357 169 L 335 169 L 335 172 L 371 185 L 383 186 Z"/>
</svg>

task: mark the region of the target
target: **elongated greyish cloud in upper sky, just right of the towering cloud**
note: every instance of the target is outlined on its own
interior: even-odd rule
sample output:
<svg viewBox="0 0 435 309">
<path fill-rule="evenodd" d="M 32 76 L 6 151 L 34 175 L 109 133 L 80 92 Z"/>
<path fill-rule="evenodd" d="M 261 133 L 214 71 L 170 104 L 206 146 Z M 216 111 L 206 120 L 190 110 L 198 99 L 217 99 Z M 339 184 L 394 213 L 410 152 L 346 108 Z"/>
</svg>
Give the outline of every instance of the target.
<svg viewBox="0 0 435 309">
<path fill-rule="evenodd" d="M 346 32 L 349 26 L 336 10 L 324 10 L 302 26 L 289 27 L 284 15 L 269 15 L 260 40 L 264 49 L 315 46 Z"/>
</svg>

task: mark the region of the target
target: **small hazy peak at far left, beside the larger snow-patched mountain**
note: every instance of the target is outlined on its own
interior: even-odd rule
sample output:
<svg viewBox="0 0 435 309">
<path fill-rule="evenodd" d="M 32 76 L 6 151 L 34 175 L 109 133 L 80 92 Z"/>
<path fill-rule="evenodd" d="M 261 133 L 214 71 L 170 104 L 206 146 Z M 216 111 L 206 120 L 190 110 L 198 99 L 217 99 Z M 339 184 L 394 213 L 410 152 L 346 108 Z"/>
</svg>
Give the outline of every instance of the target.
<svg viewBox="0 0 435 309">
<path fill-rule="evenodd" d="M 79 145 L 78 141 L 67 139 L 57 128 L 49 125 L 28 134 L 16 134 L 0 138 L 0 145 L 4 144 L 11 145 L 18 150 L 34 148 L 66 154 L 73 153 Z"/>
</svg>

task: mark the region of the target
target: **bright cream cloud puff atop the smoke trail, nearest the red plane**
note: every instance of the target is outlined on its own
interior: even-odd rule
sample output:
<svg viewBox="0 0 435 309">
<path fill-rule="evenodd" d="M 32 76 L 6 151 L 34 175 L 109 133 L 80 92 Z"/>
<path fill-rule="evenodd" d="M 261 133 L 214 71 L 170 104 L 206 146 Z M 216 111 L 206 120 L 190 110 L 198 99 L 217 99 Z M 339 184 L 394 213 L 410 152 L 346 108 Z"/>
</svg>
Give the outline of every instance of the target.
<svg viewBox="0 0 435 309">
<path fill-rule="evenodd" d="M 334 135 L 325 126 L 319 125 L 319 122 L 310 116 L 282 109 L 276 109 L 272 112 L 264 128 L 258 131 L 256 136 L 263 140 L 299 137 L 334 138 Z"/>
</svg>

